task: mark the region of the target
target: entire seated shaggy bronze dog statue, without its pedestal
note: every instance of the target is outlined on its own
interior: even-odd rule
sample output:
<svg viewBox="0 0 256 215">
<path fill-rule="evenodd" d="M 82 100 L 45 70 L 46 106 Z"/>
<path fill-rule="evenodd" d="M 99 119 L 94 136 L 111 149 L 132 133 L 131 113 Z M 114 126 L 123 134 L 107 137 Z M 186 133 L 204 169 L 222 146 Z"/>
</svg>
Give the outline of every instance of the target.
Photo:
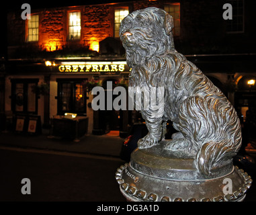
<svg viewBox="0 0 256 215">
<path fill-rule="evenodd" d="M 194 157 L 198 171 L 208 176 L 238 152 L 241 125 L 220 89 L 175 50 L 172 30 L 173 18 L 157 7 L 134 11 L 120 25 L 120 39 L 132 68 L 129 86 L 148 92 L 164 87 L 163 116 L 156 109 L 141 110 L 148 134 L 138 141 L 138 148 L 161 146 L 181 158 Z M 179 132 L 161 141 L 167 120 Z"/>
</svg>

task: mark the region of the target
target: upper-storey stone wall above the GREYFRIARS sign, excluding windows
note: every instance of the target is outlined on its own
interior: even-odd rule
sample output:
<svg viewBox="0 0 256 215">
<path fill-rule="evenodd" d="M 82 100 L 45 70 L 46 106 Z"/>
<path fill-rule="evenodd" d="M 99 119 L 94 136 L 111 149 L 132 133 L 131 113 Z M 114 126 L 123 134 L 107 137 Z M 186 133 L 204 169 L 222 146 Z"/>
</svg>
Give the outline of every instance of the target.
<svg viewBox="0 0 256 215">
<path fill-rule="evenodd" d="M 110 1 L 109 1 L 110 2 Z M 219 54 L 253 52 L 253 3 L 245 1 L 245 32 L 227 34 L 227 20 L 222 13 L 223 1 L 128 1 L 120 4 L 81 5 L 58 7 L 51 9 L 32 9 L 32 13 L 40 14 L 39 41 L 26 41 L 26 22 L 21 18 L 22 10 L 11 11 L 7 18 L 9 50 L 15 46 L 37 46 L 41 50 L 52 51 L 69 47 L 89 47 L 114 36 L 114 9 L 128 6 L 130 12 L 144 7 L 163 8 L 165 3 L 180 3 L 181 34 L 175 37 L 175 47 L 183 54 Z M 81 11 L 81 39 L 67 40 L 68 12 Z M 251 24 L 251 26 L 248 25 Z M 234 45 L 235 44 L 235 45 Z"/>
</svg>

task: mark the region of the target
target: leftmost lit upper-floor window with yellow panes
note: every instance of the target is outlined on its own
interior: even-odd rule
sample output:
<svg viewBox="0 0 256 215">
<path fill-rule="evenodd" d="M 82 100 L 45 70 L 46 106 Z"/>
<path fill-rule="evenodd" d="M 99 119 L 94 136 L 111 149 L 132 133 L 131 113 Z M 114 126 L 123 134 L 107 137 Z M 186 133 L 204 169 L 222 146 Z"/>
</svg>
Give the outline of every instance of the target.
<svg viewBox="0 0 256 215">
<path fill-rule="evenodd" d="M 28 19 L 27 42 L 38 41 L 39 15 L 31 15 Z"/>
</svg>

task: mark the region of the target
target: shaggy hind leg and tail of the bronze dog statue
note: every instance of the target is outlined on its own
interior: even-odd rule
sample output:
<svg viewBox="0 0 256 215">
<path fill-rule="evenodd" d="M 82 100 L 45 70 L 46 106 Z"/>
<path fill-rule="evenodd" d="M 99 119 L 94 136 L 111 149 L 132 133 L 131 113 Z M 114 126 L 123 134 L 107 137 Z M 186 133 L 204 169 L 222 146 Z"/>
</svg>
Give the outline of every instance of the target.
<svg viewBox="0 0 256 215">
<path fill-rule="evenodd" d="M 188 97 L 179 114 L 179 129 L 198 148 L 195 164 L 200 173 L 210 175 L 214 166 L 237 154 L 242 140 L 241 124 L 224 96 Z"/>
</svg>

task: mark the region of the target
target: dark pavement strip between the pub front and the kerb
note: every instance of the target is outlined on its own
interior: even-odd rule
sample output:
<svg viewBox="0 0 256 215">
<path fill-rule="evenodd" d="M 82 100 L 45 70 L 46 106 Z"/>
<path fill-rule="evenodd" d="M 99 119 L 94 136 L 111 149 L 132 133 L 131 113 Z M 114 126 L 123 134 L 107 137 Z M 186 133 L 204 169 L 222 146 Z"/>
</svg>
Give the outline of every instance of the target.
<svg viewBox="0 0 256 215">
<path fill-rule="evenodd" d="M 58 150 L 117 158 L 120 155 L 123 140 L 119 136 L 110 134 L 87 134 L 79 142 L 75 142 L 69 139 L 52 137 L 49 130 L 43 130 L 40 135 L 0 132 L 1 146 Z"/>
</svg>

